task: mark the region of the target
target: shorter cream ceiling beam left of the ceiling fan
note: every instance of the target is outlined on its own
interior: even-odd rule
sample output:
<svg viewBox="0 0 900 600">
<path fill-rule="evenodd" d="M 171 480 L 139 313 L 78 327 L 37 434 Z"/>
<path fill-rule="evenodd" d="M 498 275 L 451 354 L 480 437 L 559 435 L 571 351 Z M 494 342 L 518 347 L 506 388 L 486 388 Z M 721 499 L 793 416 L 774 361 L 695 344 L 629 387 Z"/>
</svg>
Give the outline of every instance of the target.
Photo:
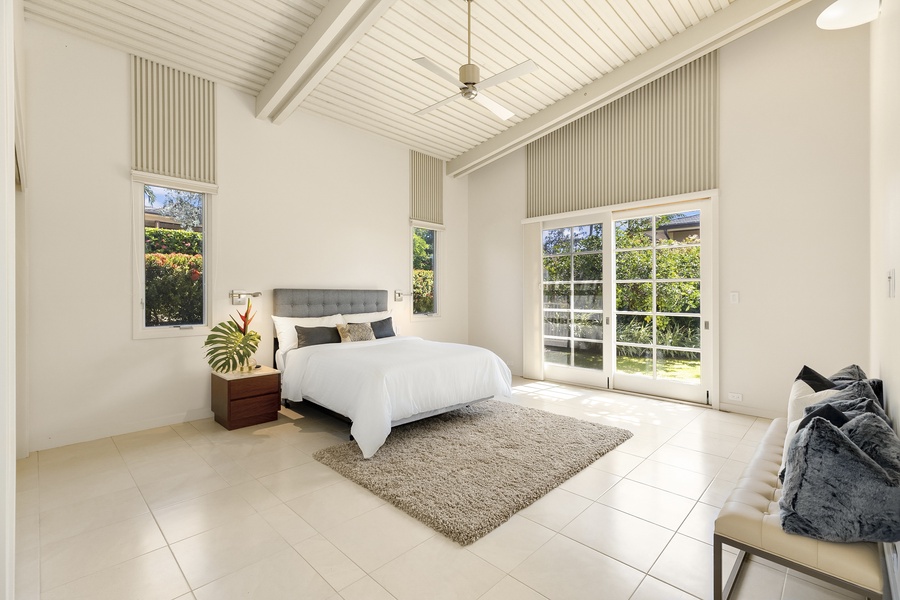
<svg viewBox="0 0 900 600">
<path fill-rule="evenodd" d="M 330 0 L 256 96 L 256 116 L 283 123 L 396 0 Z"/>
</svg>

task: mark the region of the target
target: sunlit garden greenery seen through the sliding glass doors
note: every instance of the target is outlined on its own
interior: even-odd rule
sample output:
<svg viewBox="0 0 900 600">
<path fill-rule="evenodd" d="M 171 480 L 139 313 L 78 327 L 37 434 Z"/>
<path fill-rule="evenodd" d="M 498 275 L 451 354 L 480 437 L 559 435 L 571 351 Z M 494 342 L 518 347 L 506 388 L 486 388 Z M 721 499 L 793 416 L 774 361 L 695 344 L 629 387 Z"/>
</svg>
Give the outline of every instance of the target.
<svg viewBox="0 0 900 600">
<path fill-rule="evenodd" d="M 653 350 L 648 346 L 654 344 L 700 348 L 700 283 L 696 281 L 700 279 L 700 239 L 696 235 L 670 239 L 661 229 L 682 216 L 659 215 L 655 229 L 653 217 L 615 222 L 615 337 L 620 344 L 617 369 L 623 372 L 651 374 Z M 545 335 L 602 339 L 602 250 L 600 224 L 543 232 Z M 570 312 L 573 310 L 598 312 Z M 562 346 L 548 346 L 545 360 L 560 364 L 574 360 L 581 363 L 576 366 L 602 367 L 602 357 L 579 358 L 576 347 L 571 359 L 570 352 Z M 658 352 L 658 378 L 699 377 L 699 353 Z"/>
</svg>

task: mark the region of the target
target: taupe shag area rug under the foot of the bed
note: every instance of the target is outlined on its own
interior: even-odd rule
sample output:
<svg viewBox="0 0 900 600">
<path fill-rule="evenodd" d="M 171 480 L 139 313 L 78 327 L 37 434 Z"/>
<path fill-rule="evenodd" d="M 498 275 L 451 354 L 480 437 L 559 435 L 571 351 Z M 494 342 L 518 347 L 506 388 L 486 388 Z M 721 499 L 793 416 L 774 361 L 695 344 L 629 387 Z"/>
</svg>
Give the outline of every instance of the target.
<svg viewBox="0 0 900 600">
<path fill-rule="evenodd" d="M 485 400 L 395 428 L 368 460 L 353 441 L 313 456 L 467 545 L 631 435 L 617 427 Z"/>
</svg>

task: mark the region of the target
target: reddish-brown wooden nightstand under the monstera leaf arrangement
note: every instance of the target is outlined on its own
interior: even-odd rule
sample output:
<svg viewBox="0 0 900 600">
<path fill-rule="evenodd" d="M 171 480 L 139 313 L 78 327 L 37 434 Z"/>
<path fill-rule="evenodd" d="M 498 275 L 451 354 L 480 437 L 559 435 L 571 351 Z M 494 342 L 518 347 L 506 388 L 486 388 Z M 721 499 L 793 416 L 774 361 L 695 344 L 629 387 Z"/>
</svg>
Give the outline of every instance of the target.
<svg viewBox="0 0 900 600">
<path fill-rule="evenodd" d="M 212 410 L 216 423 L 237 429 L 274 421 L 281 408 L 281 373 L 259 367 L 249 373 L 216 373 L 212 378 Z"/>
</svg>

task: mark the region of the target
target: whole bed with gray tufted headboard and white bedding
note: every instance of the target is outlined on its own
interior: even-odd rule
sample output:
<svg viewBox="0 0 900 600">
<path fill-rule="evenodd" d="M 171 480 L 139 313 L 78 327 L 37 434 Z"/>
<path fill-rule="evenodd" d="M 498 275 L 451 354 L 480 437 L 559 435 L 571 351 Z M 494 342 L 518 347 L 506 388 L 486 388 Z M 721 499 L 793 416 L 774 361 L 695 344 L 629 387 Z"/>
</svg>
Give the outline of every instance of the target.
<svg viewBox="0 0 900 600">
<path fill-rule="evenodd" d="M 343 416 L 366 458 L 392 427 L 512 393 L 506 363 L 484 348 L 388 334 L 296 348 L 279 333 L 295 319 L 330 331 L 333 322 L 382 318 L 387 302 L 386 290 L 274 290 L 275 364 L 285 404 L 312 402 Z"/>
</svg>

